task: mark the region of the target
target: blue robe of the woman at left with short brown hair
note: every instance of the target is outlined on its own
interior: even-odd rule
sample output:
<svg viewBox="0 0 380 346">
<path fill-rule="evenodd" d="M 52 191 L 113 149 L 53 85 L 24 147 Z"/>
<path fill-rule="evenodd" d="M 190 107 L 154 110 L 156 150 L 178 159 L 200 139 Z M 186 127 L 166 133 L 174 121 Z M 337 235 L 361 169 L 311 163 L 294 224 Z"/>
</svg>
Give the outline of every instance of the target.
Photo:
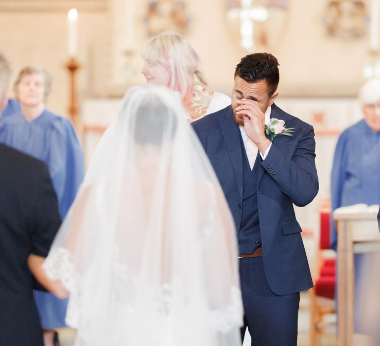
<svg viewBox="0 0 380 346">
<path fill-rule="evenodd" d="M 84 176 L 83 153 L 78 137 L 66 118 L 44 109 L 40 116 L 29 121 L 19 109 L 14 100 L 8 102 L 4 109 L 0 117 L 0 143 L 47 164 L 63 219 Z M 66 326 L 67 299 L 59 300 L 50 293 L 35 291 L 35 301 L 43 329 Z"/>
</svg>

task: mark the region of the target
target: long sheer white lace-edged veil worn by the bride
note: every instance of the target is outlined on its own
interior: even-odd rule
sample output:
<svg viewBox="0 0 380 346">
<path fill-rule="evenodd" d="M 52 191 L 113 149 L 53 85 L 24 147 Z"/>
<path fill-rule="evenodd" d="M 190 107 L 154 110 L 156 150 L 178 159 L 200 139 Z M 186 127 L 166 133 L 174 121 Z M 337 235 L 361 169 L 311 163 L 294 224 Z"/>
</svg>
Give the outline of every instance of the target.
<svg viewBox="0 0 380 346">
<path fill-rule="evenodd" d="M 179 97 L 132 87 L 44 267 L 76 345 L 241 345 L 232 216 Z"/>
</svg>

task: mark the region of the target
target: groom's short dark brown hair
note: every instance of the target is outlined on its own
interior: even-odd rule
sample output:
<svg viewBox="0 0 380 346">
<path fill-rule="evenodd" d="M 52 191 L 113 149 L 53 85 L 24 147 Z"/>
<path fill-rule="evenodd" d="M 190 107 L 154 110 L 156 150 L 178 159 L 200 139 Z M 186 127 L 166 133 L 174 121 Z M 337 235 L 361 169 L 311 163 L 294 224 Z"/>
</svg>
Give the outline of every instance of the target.
<svg viewBox="0 0 380 346">
<path fill-rule="evenodd" d="M 279 62 L 270 53 L 254 53 L 244 56 L 235 69 L 235 77 L 239 76 L 247 83 L 266 81 L 269 96 L 272 96 L 279 85 Z"/>
</svg>

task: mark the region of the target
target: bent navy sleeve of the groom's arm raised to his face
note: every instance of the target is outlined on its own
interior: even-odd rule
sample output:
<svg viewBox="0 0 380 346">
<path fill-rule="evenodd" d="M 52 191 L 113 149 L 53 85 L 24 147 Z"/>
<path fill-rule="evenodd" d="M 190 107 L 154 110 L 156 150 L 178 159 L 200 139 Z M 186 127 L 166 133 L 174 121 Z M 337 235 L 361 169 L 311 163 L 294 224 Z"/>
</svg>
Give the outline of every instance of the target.
<svg viewBox="0 0 380 346">
<path fill-rule="evenodd" d="M 292 203 L 299 207 L 309 204 L 317 195 L 319 188 L 313 128 L 307 127 L 291 158 L 284 154 L 281 147 L 273 143 L 261 166 Z"/>
</svg>

